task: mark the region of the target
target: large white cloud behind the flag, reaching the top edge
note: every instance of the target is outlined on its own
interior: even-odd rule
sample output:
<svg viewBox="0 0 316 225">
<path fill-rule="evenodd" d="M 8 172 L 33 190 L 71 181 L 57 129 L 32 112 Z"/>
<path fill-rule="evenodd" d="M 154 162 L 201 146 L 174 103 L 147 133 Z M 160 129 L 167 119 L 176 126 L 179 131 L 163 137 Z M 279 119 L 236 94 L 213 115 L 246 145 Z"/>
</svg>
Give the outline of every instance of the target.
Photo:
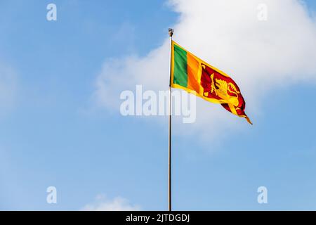
<svg viewBox="0 0 316 225">
<path fill-rule="evenodd" d="M 264 113 L 261 101 L 268 91 L 316 81 L 316 25 L 300 1 L 172 0 L 169 3 L 180 15 L 173 26 L 174 39 L 235 79 L 246 99 L 246 113 L 255 125 L 254 119 L 262 110 Z M 268 6 L 267 21 L 258 20 L 258 4 Z M 161 47 L 143 58 L 106 60 L 96 79 L 96 102 L 107 109 L 119 110 L 119 93 L 134 90 L 136 84 L 143 84 L 145 89 L 168 89 L 167 37 Z M 248 124 L 220 105 L 199 100 L 197 122 L 187 126 L 209 137 L 210 132 L 220 134 L 225 129 L 227 134 Z M 182 127 L 178 132 L 187 130 Z"/>
</svg>

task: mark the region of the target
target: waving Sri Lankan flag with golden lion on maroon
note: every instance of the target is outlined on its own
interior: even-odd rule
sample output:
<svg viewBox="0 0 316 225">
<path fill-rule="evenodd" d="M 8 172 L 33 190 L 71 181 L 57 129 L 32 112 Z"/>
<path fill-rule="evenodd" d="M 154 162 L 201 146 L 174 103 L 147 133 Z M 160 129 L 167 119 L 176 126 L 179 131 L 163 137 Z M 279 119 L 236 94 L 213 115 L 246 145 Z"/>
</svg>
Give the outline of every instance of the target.
<svg viewBox="0 0 316 225">
<path fill-rule="evenodd" d="M 183 49 L 175 41 L 171 43 L 171 86 L 211 103 L 220 103 L 230 113 L 244 117 L 252 124 L 244 113 L 244 98 L 232 78 Z"/>
</svg>

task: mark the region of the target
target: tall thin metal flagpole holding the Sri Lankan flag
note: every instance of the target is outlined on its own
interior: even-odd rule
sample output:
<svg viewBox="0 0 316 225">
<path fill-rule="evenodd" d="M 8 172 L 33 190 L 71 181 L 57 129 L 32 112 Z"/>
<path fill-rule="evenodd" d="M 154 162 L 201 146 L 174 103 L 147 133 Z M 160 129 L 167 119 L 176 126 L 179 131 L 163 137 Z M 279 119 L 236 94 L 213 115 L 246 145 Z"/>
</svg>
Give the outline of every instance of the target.
<svg viewBox="0 0 316 225">
<path fill-rule="evenodd" d="M 170 37 L 170 81 L 169 81 L 169 140 L 168 140 L 168 207 L 169 211 L 171 211 L 171 113 L 172 113 L 172 98 L 171 98 L 171 47 L 172 47 L 172 36 L 174 30 L 169 28 L 169 37 Z"/>
</svg>

